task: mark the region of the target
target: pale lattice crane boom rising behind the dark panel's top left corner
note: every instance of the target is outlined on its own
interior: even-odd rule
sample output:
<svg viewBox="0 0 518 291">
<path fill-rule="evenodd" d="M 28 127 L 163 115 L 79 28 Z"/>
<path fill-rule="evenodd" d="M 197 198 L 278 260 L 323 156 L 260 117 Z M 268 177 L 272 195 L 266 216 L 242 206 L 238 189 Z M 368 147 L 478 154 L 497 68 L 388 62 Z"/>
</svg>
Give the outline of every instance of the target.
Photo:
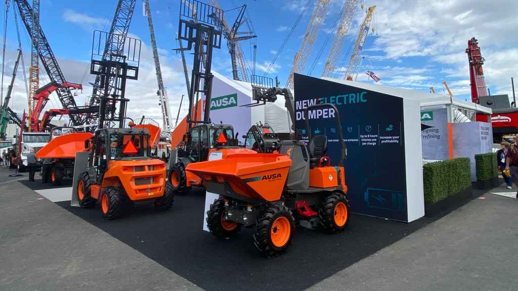
<svg viewBox="0 0 518 291">
<path fill-rule="evenodd" d="M 300 43 L 300 48 L 298 49 L 298 52 L 295 54 L 293 66 L 290 71 L 290 76 L 288 77 L 286 85 L 284 86 L 287 89 L 293 90 L 293 74 L 302 74 L 304 72 L 304 69 L 306 68 L 309 55 L 313 50 L 316 37 L 319 35 L 320 27 L 322 26 L 322 22 L 324 21 L 325 12 L 327 11 L 329 2 L 330 0 L 318 0 L 318 2 L 316 3 L 311 19 L 309 20 L 308 28 L 306 30 L 306 34 L 304 35 L 304 39 L 302 40 L 302 43 Z"/>
</svg>

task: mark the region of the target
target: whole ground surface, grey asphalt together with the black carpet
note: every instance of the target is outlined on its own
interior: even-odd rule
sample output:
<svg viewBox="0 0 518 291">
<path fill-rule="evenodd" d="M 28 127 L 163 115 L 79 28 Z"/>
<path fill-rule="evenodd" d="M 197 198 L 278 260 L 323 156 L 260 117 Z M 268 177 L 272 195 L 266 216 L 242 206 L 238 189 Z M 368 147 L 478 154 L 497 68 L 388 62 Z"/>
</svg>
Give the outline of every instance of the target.
<svg viewBox="0 0 518 291">
<path fill-rule="evenodd" d="M 412 223 L 351 214 L 341 234 L 297 228 L 289 251 L 267 259 L 255 249 L 251 229 L 230 240 L 202 230 L 201 189 L 176 196 L 168 211 L 125 205 L 120 219 L 106 221 L 98 205 L 82 209 L 69 201 L 50 202 L 35 192 L 49 188 L 38 176 L 28 182 L 26 173 L 5 178 L 7 173 L 0 169 L 2 290 L 518 286 L 518 201 L 484 191 L 473 194 L 486 199 Z M 71 186 L 67 180 L 64 187 Z"/>
</svg>

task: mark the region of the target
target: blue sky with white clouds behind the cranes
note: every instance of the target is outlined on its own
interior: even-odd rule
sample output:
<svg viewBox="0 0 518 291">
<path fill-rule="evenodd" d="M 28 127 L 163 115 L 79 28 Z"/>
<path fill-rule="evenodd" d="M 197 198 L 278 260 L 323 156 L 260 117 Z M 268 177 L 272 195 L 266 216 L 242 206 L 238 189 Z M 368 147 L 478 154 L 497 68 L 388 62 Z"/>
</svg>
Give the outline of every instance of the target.
<svg viewBox="0 0 518 291">
<path fill-rule="evenodd" d="M 300 47 L 316 0 L 312 0 L 300 22 L 294 27 L 296 19 L 307 0 L 219 0 L 225 10 L 227 21 L 232 23 L 237 16 L 236 7 L 247 5 L 247 18 L 257 39 L 256 75 L 263 76 L 264 70 L 279 53 L 267 77 L 279 78 L 281 86 L 286 83 L 293 64 L 294 54 Z M 32 1 L 29 1 L 32 4 Z M 147 17 L 142 16 L 142 0 L 137 0 L 133 14 L 130 36 L 142 40 L 139 80 L 128 81 L 126 97 L 130 98 L 128 116 L 138 118 L 142 114 L 161 123 L 162 115 L 156 97 L 157 82 L 154 72 L 153 56 L 148 30 Z M 344 0 L 331 0 L 323 25 L 315 41 L 312 54 L 304 74 L 320 77 L 329 47 L 336 28 L 333 26 L 342 9 Z M 365 8 L 360 8 L 361 4 Z M 92 37 L 94 30 L 107 31 L 113 18 L 116 0 L 64 1 L 40 0 L 40 24 L 56 56 L 65 79 L 82 83 L 83 92 L 78 92 L 76 103 L 82 104 L 89 99 L 92 89 L 88 82 L 94 80 L 89 75 Z M 365 9 L 376 5 L 371 26 L 375 33 L 369 32 L 362 56 L 365 60 L 359 69 L 357 81 L 367 82 L 363 72 L 369 69 L 381 78 L 377 84 L 429 92 L 434 86 L 437 93 L 448 94 L 442 82 L 446 81 L 456 98 L 470 100 L 468 57 L 465 53 L 468 40 L 479 40 L 486 84 L 492 95 L 508 94 L 512 99 L 511 77 L 518 77 L 518 5 L 512 0 L 498 2 L 468 0 L 400 0 L 358 1 L 353 23 L 344 43 L 337 78 L 342 78 L 344 67 L 350 57 L 351 42 L 365 17 Z M 2 3 L 5 12 L 5 3 Z M 178 112 L 180 98 L 186 94 L 180 54 L 172 49 L 178 48 L 179 0 L 150 0 L 155 37 L 159 48 L 160 63 L 164 83 L 167 87 L 171 112 Z M 12 66 L 16 57 L 18 40 L 11 4 L 7 16 L 6 56 L 4 63 L 3 95 L 11 80 Z M 17 10 L 16 10 L 17 11 Z M 5 13 L 2 16 L 5 22 Z M 20 17 L 18 17 L 20 20 Z M 25 66 L 30 65 L 30 42 L 22 24 L 20 36 Z M 282 43 L 293 29 L 291 37 L 280 50 Z M 243 25 L 241 31 L 248 31 Z M 2 34 L 3 31 L 2 31 Z M 325 39 L 330 35 L 329 41 Z M 252 68 L 253 41 L 242 41 L 241 47 L 247 65 Z M 320 56 L 318 52 L 322 51 Z M 349 54 L 348 54 L 349 52 Z M 192 55 L 186 54 L 187 63 L 192 64 Z M 342 67 L 339 67 L 339 65 Z M 310 71 L 309 69 L 313 67 Z M 231 61 L 223 40 L 222 48 L 214 51 L 212 69 L 232 77 Z M 26 69 L 28 78 L 28 69 Z M 45 74 L 44 74 L 45 75 Z M 22 71 L 19 70 L 15 92 L 10 107 L 19 115 L 27 107 L 27 98 Z M 40 85 L 49 82 L 48 77 L 40 77 Z M 370 80 L 372 82 L 372 80 Z M 516 84 L 518 86 L 518 83 Z M 46 109 L 59 108 L 55 97 Z M 181 115 L 185 113 L 183 103 Z"/>
</svg>

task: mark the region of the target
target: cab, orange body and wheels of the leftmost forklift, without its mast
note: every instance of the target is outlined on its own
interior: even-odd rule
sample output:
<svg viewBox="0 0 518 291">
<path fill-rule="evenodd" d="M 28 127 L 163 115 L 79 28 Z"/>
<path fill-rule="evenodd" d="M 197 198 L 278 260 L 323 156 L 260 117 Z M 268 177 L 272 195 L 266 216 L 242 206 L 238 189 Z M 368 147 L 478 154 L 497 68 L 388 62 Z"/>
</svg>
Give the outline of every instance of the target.
<svg viewBox="0 0 518 291">
<path fill-rule="evenodd" d="M 77 185 L 79 205 L 89 208 L 100 200 L 108 220 L 120 216 L 124 200 L 135 206 L 153 203 L 159 210 L 171 208 L 174 193 L 166 182 L 165 162 L 151 158 L 159 136 L 160 128 L 151 124 L 96 130 L 84 141 L 90 153 Z"/>
</svg>

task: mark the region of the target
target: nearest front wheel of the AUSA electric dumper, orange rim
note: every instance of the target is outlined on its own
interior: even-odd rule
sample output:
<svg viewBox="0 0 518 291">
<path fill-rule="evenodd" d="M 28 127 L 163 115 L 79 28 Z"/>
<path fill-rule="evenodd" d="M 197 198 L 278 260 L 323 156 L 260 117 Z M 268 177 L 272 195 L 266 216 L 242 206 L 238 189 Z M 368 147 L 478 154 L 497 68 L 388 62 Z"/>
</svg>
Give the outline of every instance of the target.
<svg viewBox="0 0 518 291">
<path fill-rule="evenodd" d="M 267 257 L 284 254 L 292 244 L 295 223 L 293 213 L 283 205 L 275 205 L 256 220 L 254 244 Z"/>
</svg>

